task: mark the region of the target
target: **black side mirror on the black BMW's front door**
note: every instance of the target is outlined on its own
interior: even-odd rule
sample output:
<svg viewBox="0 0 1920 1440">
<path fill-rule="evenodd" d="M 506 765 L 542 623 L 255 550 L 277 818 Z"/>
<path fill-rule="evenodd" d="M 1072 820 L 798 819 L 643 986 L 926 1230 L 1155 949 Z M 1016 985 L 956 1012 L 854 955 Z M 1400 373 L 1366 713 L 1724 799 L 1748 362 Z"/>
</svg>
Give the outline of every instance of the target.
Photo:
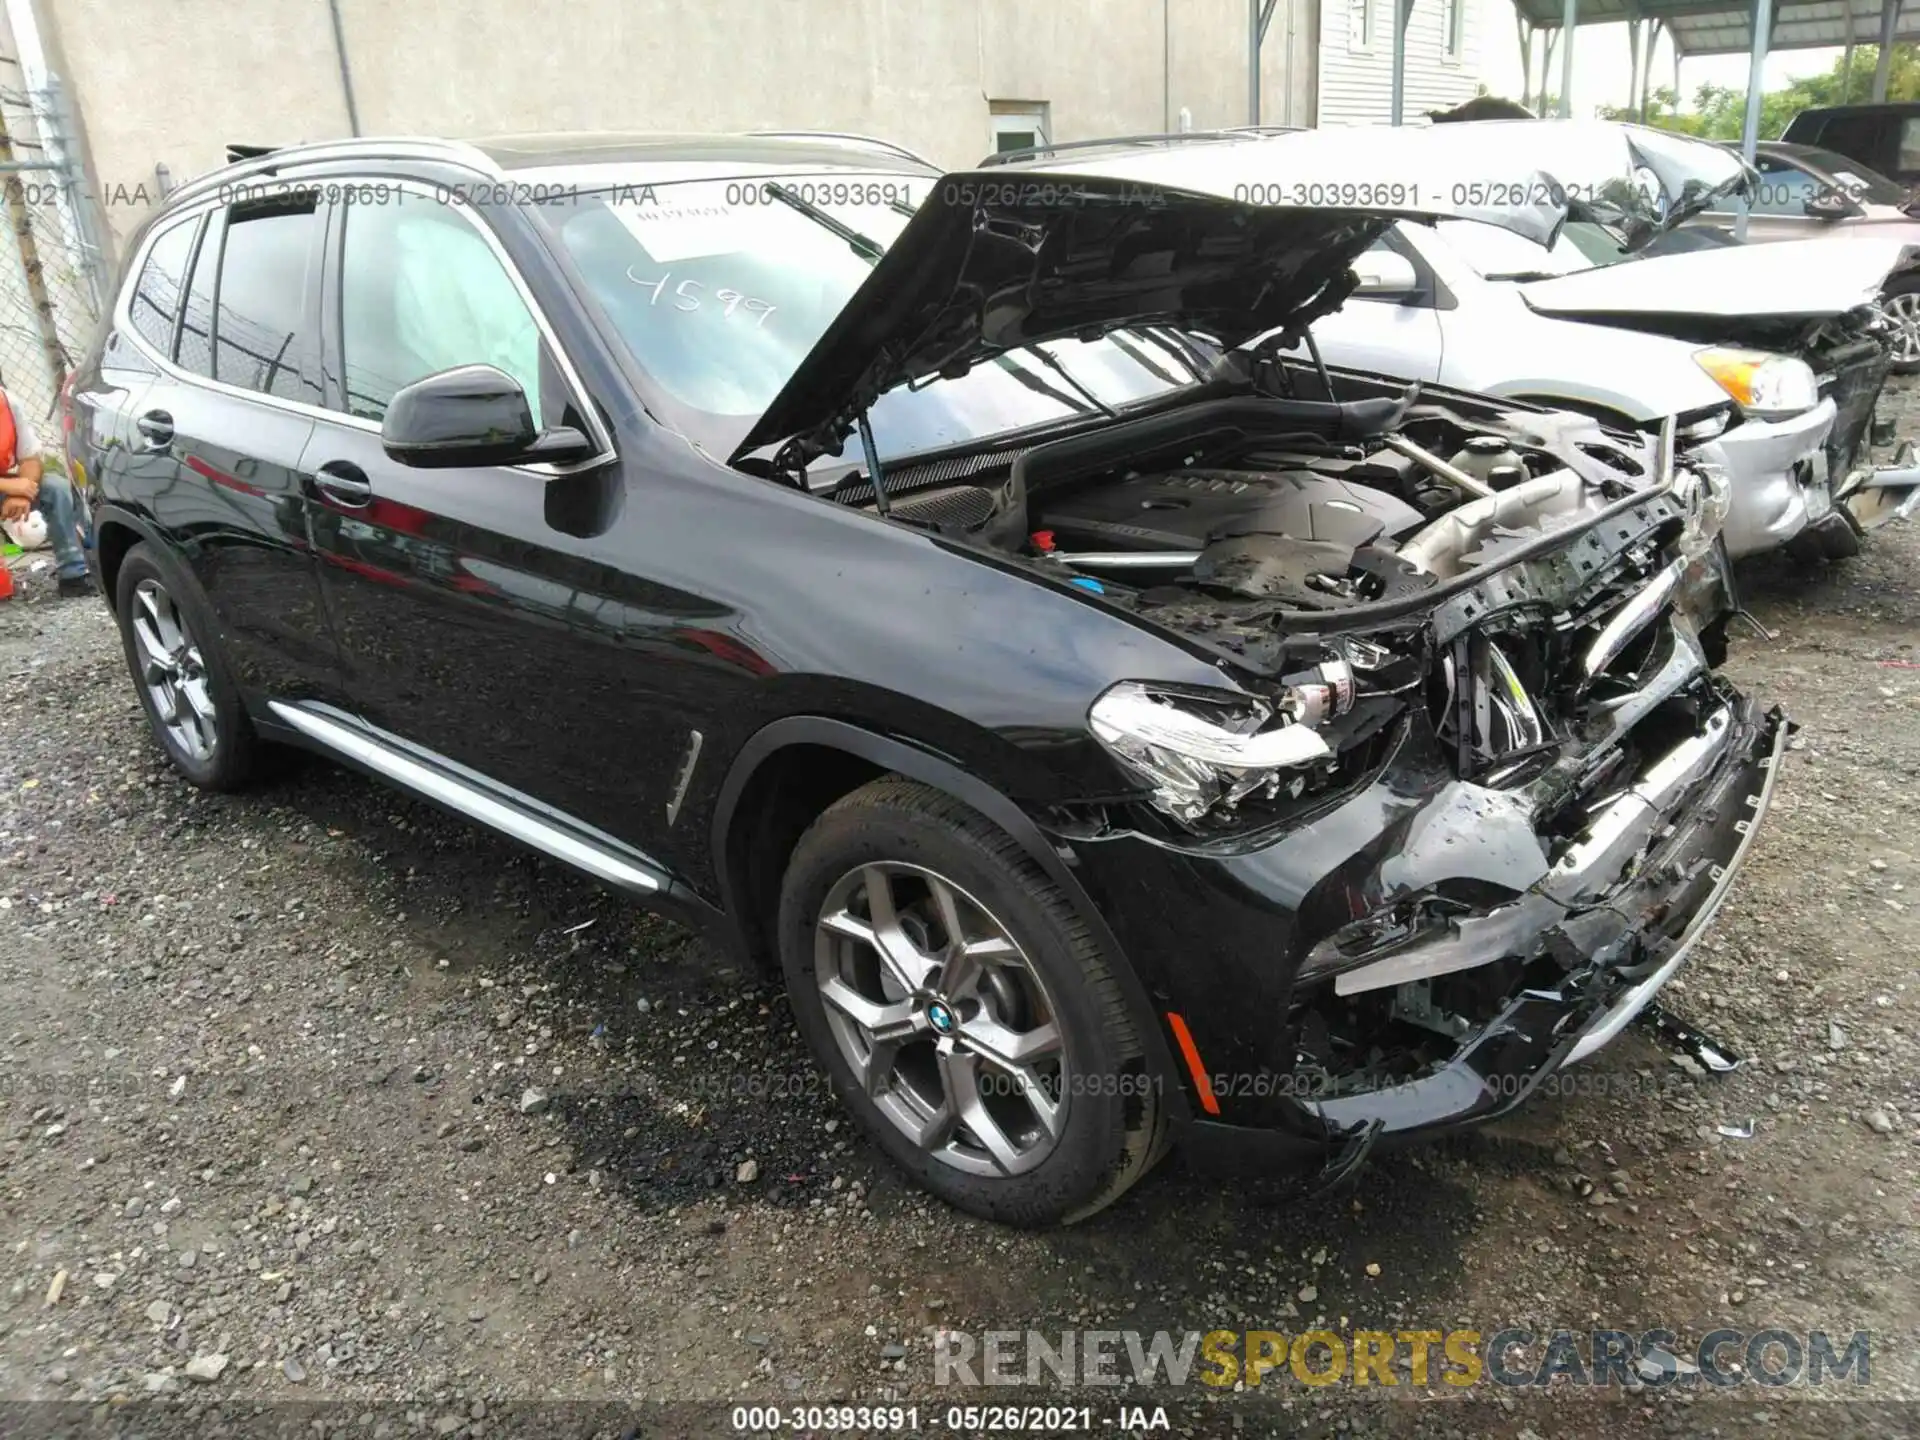
<svg viewBox="0 0 1920 1440">
<path fill-rule="evenodd" d="M 520 382 L 492 365 L 459 365 L 405 386 L 388 401 L 380 445 L 422 470 L 578 461 L 593 453 L 578 430 L 536 430 Z"/>
</svg>

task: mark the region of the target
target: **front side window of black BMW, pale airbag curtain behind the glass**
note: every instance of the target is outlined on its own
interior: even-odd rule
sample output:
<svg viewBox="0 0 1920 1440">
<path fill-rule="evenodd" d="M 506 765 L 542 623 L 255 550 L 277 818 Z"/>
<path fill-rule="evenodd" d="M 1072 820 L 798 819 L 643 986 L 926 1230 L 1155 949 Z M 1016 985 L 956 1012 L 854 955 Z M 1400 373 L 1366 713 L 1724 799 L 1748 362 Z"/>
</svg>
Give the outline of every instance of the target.
<svg viewBox="0 0 1920 1440">
<path fill-rule="evenodd" d="M 403 386 L 492 365 L 520 382 L 541 426 L 540 326 L 478 225 L 413 190 L 348 205 L 340 359 L 349 415 L 380 420 Z"/>
</svg>

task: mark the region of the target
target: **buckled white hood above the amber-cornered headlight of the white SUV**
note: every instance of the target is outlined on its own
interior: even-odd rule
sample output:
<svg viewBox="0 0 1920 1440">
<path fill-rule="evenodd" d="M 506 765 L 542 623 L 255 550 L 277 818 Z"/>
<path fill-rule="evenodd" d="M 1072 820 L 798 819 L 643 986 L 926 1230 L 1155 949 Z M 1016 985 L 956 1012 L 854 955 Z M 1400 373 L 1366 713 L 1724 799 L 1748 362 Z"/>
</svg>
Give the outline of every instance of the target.
<svg viewBox="0 0 1920 1440">
<path fill-rule="evenodd" d="M 1716 246 L 1530 280 L 1521 298 L 1567 319 L 1824 319 L 1880 298 L 1910 248 L 1899 240 Z"/>
</svg>

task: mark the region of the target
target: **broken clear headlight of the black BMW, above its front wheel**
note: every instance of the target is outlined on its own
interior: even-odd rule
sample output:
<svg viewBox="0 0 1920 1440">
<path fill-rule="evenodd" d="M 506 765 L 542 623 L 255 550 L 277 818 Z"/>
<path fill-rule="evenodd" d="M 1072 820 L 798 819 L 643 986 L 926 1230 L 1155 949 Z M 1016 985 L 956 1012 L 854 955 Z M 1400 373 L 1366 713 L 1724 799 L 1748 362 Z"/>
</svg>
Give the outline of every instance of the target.
<svg viewBox="0 0 1920 1440">
<path fill-rule="evenodd" d="M 1286 676 L 1275 699 L 1123 680 L 1087 720 L 1119 764 L 1183 826 L 1260 795 L 1298 797 L 1334 760 L 1317 726 L 1354 707 L 1354 668 L 1325 660 Z"/>
</svg>

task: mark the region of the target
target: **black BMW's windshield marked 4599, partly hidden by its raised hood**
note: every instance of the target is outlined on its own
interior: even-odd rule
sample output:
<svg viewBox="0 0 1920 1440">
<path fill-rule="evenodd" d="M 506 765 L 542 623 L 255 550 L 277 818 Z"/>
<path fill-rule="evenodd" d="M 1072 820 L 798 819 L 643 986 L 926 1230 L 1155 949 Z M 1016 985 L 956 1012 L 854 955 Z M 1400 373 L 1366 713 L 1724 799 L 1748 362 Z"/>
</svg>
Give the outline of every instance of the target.
<svg viewBox="0 0 1920 1440">
<path fill-rule="evenodd" d="M 545 215 L 634 359 L 732 449 L 931 184 L 870 171 L 636 180 L 566 192 Z M 1179 338 L 1062 340 L 893 390 L 870 420 L 883 455 L 906 455 L 1098 415 L 1196 378 Z"/>
</svg>

